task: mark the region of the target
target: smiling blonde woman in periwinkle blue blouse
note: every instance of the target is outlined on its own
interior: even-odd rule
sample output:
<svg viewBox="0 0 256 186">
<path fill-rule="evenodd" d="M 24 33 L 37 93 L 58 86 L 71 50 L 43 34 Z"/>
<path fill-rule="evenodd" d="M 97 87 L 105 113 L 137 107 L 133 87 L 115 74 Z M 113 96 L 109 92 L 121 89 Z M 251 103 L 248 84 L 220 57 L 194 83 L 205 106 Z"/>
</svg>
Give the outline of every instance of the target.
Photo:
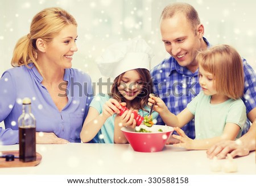
<svg viewBox="0 0 256 186">
<path fill-rule="evenodd" d="M 77 23 L 59 7 L 34 16 L 30 33 L 18 40 L 11 68 L 0 79 L 0 143 L 18 143 L 22 99 L 32 100 L 36 143 L 81 142 L 92 86 L 89 75 L 72 69 Z M 78 86 L 75 86 L 78 85 Z"/>
</svg>

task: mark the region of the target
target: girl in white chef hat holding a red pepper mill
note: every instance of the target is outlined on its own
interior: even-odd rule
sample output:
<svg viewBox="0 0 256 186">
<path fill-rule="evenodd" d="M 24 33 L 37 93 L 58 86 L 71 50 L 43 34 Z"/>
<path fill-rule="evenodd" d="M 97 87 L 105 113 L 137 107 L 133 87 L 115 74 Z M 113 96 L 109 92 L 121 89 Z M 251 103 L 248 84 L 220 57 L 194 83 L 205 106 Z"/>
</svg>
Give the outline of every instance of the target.
<svg viewBox="0 0 256 186">
<path fill-rule="evenodd" d="M 123 126 L 136 126 L 134 113 L 148 115 L 152 82 L 149 72 L 152 49 L 143 39 L 112 44 L 97 59 L 100 72 L 113 77 L 110 94 L 97 94 L 90 104 L 89 113 L 80 133 L 82 142 L 94 137 L 98 143 L 127 143 L 121 131 Z M 121 106 L 127 110 L 120 113 Z M 152 114 L 155 119 L 158 113 Z M 95 138 L 94 138 L 95 139 Z"/>
</svg>

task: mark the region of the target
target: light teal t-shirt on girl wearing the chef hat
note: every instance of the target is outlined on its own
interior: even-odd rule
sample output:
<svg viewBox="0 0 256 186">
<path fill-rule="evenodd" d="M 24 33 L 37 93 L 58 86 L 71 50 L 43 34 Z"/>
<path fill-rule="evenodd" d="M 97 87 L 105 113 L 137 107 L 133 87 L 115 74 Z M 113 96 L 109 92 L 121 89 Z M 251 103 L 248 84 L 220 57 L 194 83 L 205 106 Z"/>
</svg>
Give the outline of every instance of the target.
<svg viewBox="0 0 256 186">
<path fill-rule="evenodd" d="M 99 114 L 101 114 L 105 102 L 108 101 L 110 98 L 111 97 L 108 94 L 97 94 L 90 103 L 90 106 L 92 106 L 98 111 Z M 150 111 L 150 108 L 148 106 L 145 106 L 144 109 L 148 110 L 148 112 L 144 110 L 138 110 L 138 114 L 142 115 L 143 117 L 145 115 L 148 115 Z M 158 113 L 156 113 L 156 111 L 153 111 L 152 118 L 156 119 L 157 117 Z M 98 131 L 98 143 L 114 143 L 114 119 L 115 114 L 109 117 L 104 125 L 101 127 L 100 131 Z"/>
</svg>

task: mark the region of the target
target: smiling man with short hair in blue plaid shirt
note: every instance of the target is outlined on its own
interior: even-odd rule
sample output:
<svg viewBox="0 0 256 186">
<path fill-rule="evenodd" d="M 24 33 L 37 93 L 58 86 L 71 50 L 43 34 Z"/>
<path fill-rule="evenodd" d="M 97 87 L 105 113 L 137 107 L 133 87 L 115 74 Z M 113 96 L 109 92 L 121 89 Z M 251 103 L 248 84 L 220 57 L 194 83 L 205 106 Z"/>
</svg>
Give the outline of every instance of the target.
<svg viewBox="0 0 256 186">
<path fill-rule="evenodd" d="M 164 8 L 160 19 L 160 32 L 166 51 L 171 56 L 151 70 L 154 92 L 177 115 L 201 90 L 197 77 L 199 65 L 195 57 L 197 51 L 207 49 L 210 44 L 203 37 L 204 26 L 200 23 L 197 11 L 187 3 L 174 3 Z M 246 105 L 247 118 L 253 122 L 256 118 L 255 72 L 245 59 L 243 68 L 245 94 L 242 100 Z M 164 125 L 160 117 L 158 124 Z M 249 127 L 250 123 L 247 121 L 243 134 Z M 189 138 L 195 139 L 194 120 L 182 129 Z"/>
</svg>

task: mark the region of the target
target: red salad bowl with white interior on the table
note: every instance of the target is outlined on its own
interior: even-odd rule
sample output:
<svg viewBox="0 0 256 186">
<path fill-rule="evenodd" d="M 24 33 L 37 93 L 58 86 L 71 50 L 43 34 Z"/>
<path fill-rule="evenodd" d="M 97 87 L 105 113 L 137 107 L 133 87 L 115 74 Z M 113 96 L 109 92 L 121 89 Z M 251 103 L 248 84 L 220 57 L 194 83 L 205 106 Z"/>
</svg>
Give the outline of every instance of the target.
<svg viewBox="0 0 256 186">
<path fill-rule="evenodd" d="M 174 132 L 173 127 L 163 125 L 153 125 L 152 127 L 140 125 L 137 130 L 138 128 L 146 129 L 151 133 L 135 132 L 135 129 L 131 127 L 122 127 L 121 129 L 133 150 L 138 152 L 162 151 L 168 138 Z M 158 131 L 159 129 L 162 131 Z"/>
</svg>

